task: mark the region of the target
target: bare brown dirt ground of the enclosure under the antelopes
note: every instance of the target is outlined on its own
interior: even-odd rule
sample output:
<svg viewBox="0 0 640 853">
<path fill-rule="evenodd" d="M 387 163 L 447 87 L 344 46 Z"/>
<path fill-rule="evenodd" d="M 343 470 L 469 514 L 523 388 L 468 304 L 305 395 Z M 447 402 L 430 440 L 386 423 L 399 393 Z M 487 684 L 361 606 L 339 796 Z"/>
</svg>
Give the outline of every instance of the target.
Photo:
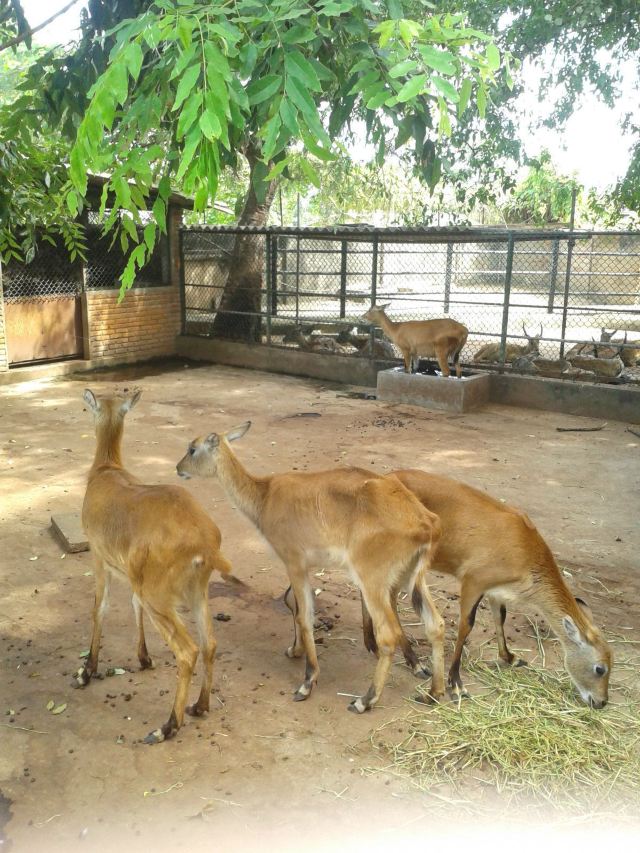
<svg viewBox="0 0 640 853">
<path fill-rule="evenodd" d="M 288 660 L 291 620 L 281 601 L 286 574 L 251 523 L 212 480 L 187 488 L 222 530 L 223 550 L 250 589 L 211 587 L 218 657 L 210 714 L 178 737 L 141 738 L 167 718 L 175 689 L 171 653 L 150 627 L 156 668 L 138 671 L 130 596 L 112 588 L 102 669 L 124 675 L 70 686 L 89 644 L 93 577 L 89 553 L 63 553 L 50 516 L 79 510 L 94 451 L 82 391 L 143 388 L 128 416 L 125 464 L 151 483 L 177 482 L 175 464 L 195 435 L 252 420 L 235 447 L 258 473 L 345 464 L 387 472 L 422 467 L 464 480 L 524 509 L 569 572 L 574 591 L 607 630 L 638 639 L 640 439 L 610 421 L 600 432 L 556 431 L 593 421 L 499 406 L 449 415 L 345 399 L 319 381 L 217 366 L 98 372 L 0 390 L 0 850 L 313 850 L 401 841 L 434 842 L 444 824 L 433 801 L 385 773 L 371 732 L 402 717 L 415 680 L 398 659 L 371 713 L 347 713 L 374 659 L 361 642 L 360 605 L 339 571 L 314 579 L 321 676 L 307 702 L 292 703 L 302 663 Z M 449 657 L 456 601 L 448 580 L 432 589 L 446 615 Z M 412 629 L 418 630 L 418 629 Z M 521 614 L 508 638 L 535 665 Z M 487 611 L 471 649 L 492 637 Z M 422 653 L 427 654 L 426 648 Z M 197 693 L 196 674 L 192 687 Z M 612 701 L 615 701 L 615 672 Z M 46 706 L 67 703 L 51 714 Z M 392 728 L 392 727 L 391 727 Z M 28 731 L 33 730 L 33 731 Z M 7 820 L 8 818 L 8 820 Z M 474 840 L 491 828 L 474 826 Z M 538 833 L 544 830 L 539 828 Z M 539 835 L 528 836 L 529 842 Z M 593 840 L 592 834 L 588 835 Z M 524 843 L 524 842 L 523 842 Z M 536 842 L 537 843 L 537 842 Z M 525 845 L 526 846 L 526 845 Z"/>
</svg>

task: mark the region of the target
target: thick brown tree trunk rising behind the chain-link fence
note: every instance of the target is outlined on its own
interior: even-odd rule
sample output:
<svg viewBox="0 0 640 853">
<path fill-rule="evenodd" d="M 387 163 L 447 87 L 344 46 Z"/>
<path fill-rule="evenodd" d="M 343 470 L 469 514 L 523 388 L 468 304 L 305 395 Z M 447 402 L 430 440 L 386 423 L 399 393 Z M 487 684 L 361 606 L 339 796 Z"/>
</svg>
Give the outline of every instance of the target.
<svg viewBox="0 0 640 853">
<path fill-rule="evenodd" d="M 250 166 L 249 190 L 238 225 L 260 228 L 267 224 L 277 181 L 271 181 L 264 201 L 258 201 L 253 187 L 258 158 L 250 152 L 247 159 Z M 238 234 L 231 255 L 229 275 L 213 321 L 213 337 L 249 342 L 261 340 L 264 274 L 264 234 Z"/>
</svg>

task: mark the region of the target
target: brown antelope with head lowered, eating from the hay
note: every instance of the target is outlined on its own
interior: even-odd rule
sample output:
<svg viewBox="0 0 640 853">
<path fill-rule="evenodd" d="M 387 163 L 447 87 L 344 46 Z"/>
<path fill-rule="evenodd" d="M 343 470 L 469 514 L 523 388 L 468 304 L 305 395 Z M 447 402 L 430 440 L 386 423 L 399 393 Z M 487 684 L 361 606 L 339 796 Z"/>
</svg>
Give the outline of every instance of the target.
<svg viewBox="0 0 640 853">
<path fill-rule="evenodd" d="M 582 699 L 593 708 L 607 704 L 611 650 L 593 624 L 590 611 L 566 585 L 549 547 L 530 519 L 513 507 L 464 483 L 424 471 L 394 471 L 413 494 L 440 518 L 442 536 L 432 568 L 460 583 L 458 639 L 449 670 L 449 687 L 463 691 L 460 658 L 486 596 L 506 664 L 521 665 L 504 636 L 506 605 L 519 600 L 540 610 L 564 650 L 565 667 Z M 371 620 L 363 605 L 364 638 L 375 651 Z"/>
</svg>

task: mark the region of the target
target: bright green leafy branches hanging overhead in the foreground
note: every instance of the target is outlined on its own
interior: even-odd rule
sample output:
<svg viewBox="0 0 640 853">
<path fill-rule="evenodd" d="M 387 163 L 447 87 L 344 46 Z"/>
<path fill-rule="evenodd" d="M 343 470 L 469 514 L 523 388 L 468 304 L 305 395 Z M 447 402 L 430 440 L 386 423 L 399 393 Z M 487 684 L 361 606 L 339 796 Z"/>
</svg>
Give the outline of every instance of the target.
<svg viewBox="0 0 640 853">
<path fill-rule="evenodd" d="M 105 229 L 131 250 L 124 283 L 164 230 L 172 184 L 202 210 L 215 197 L 225 166 L 244 155 L 260 204 L 287 174 L 292 149 L 305 179 L 318 185 L 318 164 L 335 158 L 333 141 L 354 115 L 364 121 L 381 164 L 388 151 L 410 144 L 419 172 L 434 186 L 441 174 L 437 141 L 458 117 L 484 115 L 501 69 L 500 52 L 461 15 L 433 15 L 431 4 L 401 0 L 237 0 L 201 3 L 157 0 L 135 4 L 135 17 L 110 33 L 104 53 L 87 66 L 40 73 L 51 120 L 70 134 L 71 213 L 86 199 L 87 172 L 108 172 Z M 416 16 L 409 17 L 405 6 Z M 89 39 L 98 49 L 100 41 Z M 102 48 L 100 48 L 102 50 Z M 94 77 L 83 100 L 87 77 Z M 60 85 L 64 82 L 64 86 Z M 86 91 L 86 89 L 85 89 Z M 34 123 L 33 98 L 14 105 Z M 28 131 L 27 131 L 28 132 Z M 136 224 L 152 183 L 159 186 L 153 220 L 138 242 Z M 129 215 L 118 216 L 118 209 Z"/>
</svg>

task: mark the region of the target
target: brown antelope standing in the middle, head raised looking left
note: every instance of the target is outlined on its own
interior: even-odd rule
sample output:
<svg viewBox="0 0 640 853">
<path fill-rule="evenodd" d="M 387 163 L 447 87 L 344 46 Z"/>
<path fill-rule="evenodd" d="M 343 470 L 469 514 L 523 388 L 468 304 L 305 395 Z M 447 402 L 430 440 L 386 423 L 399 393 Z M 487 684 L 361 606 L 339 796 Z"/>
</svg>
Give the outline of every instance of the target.
<svg viewBox="0 0 640 853">
<path fill-rule="evenodd" d="M 304 681 L 294 700 L 307 699 L 319 673 L 308 571 L 331 565 L 346 568 L 360 588 L 378 652 L 371 686 L 349 710 L 361 714 L 376 704 L 396 647 L 409 645 L 392 605 L 401 588 L 412 591 L 413 606 L 431 641 L 431 696 L 440 698 L 444 622 L 425 580 L 440 536 L 437 516 L 398 480 L 361 468 L 254 476 L 230 446 L 250 426 L 247 421 L 227 433 L 194 439 L 176 468 L 181 477 L 217 477 L 285 564 L 290 583 L 285 600 L 294 614 L 294 639 L 286 654 L 306 657 Z M 422 674 L 417 659 L 414 664 L 415 674 Z"/>
</svg>

